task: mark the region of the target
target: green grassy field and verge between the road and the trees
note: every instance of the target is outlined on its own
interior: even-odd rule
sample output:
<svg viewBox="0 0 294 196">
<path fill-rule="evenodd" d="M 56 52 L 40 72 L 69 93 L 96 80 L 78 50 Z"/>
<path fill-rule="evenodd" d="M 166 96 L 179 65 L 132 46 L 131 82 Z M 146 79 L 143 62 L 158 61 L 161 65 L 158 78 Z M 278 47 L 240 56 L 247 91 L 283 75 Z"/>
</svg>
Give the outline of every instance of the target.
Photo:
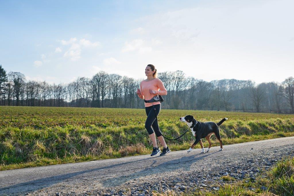
<svg viewBox="0 0 294 196">
<path fill-rule="evenodd" d="M 162 133 L 179 136 L 188 129 L 179 117 L 188 114 L 199 121 L 227 117 L 220 126 L 224 145 L 294 136 L 294 115 L 164 109 L 158 116 Z M 151 153 L 145 120 L 144 109 L 0 106 L 0 170 Z M 192 140 L 188 132 L 167 143 L 185 150 Z"/>
</svg>

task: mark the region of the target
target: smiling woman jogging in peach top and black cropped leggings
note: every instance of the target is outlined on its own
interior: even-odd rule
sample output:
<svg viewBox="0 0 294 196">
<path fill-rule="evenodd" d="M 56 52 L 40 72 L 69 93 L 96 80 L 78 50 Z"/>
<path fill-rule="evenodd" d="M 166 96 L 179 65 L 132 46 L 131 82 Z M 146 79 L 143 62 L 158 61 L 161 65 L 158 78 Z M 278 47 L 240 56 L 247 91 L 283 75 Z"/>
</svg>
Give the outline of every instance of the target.
<svg viewBox="0 0 294 196">
<path fill-rule="evenodd" d="M 164 88 L 162 81 L 157 78 L 157 70 L 154 65 L 147 65 L 145 69 L 145 74 L 147 76 L 147 79 L 143 80 L 140 83 L 140 89 L 138 88 L 136 92 L 141 99 L 151 100 L 156 95 L 167 95 L 166 88 Z M 153 109 L 153 105 L 156 110 Z M 147 114 L 145 128 L 147 129 L 149 137 L 151 138 L 153 143 L 153 152 L 151 156 L 155 156 L 158 155 L 158 153 L 161 153 L 160 149 L 157 146 L 155 135 L 163 146 L 163 150 L 160 155 L 166 155 L 166 153 L 171 152 L 164 141 L 161 131 L 159 130 L 156 116 L 160 112 L 160 108 L 161 105 L 159 101 L 153 103 L 145 103 L 145 110 Z"/>
</svg>

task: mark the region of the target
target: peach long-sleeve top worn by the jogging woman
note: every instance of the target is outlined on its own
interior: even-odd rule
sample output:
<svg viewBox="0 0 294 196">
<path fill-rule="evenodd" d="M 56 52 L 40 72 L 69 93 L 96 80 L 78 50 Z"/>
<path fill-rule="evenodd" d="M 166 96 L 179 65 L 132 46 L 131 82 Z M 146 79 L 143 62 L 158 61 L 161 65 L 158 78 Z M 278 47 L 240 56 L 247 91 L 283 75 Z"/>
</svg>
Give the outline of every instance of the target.
<svg viewBox="0 0 294 196">
<path fill-rule="evenodd" d="M 155 91 L 155 94 L 151 94 L 149 90 Z M 160 90 L 160 91 L 159 91 Z M 154 78 L 150 81 L 142 81 L 140 83 L 141 99 L 150 100 L 156 95 L 167 95 L 166 88 L 159 78 Z M 144 102 L 145 103 L 145 102 Z M 160 104 L 160 102 L 153 102 L 153 105 Z M 145 103 L 145 107 L 152 106 L 152 103 Z"/>
</svg>

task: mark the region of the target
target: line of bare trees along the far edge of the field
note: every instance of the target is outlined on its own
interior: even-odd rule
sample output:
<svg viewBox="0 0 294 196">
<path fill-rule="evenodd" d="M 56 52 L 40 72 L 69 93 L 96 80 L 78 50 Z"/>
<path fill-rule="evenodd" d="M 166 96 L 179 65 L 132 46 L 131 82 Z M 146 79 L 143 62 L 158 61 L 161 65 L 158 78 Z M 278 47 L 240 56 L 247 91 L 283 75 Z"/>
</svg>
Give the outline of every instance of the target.
<svg viewBox="0 0 294 196">
<path fill-rule="evenodd" d="M 183 71 L 158 74 L 168 94 L 166 109 L 241 110 L 294 113 L 294 78 L 282 83 L 255 84 L 251 80 L 223 79 L 206 82 L 186 77 Z M 143 79 L 142 79 L 143 80 Z M 144 108 L 136 95 L 141 80 L 100 71 L 92 78 L 69 84 L 26 81 L 19 72 L 0 65 L 0 105 Z"/>
</svg>

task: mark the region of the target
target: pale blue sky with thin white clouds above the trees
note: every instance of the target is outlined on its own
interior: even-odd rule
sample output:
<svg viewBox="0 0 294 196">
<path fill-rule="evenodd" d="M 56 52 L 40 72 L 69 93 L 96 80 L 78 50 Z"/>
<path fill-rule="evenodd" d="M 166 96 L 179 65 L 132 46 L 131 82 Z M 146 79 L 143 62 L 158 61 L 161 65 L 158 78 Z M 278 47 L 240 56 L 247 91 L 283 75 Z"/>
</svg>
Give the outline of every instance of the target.
<svg viewBox="0 0 294 196">
<path fill-rule="evenodd" d="M 294 76 L 294 1 L 0 1 L 0 64 L 69 83 L 100 70 L 206 81 Z"/>
</svg>

